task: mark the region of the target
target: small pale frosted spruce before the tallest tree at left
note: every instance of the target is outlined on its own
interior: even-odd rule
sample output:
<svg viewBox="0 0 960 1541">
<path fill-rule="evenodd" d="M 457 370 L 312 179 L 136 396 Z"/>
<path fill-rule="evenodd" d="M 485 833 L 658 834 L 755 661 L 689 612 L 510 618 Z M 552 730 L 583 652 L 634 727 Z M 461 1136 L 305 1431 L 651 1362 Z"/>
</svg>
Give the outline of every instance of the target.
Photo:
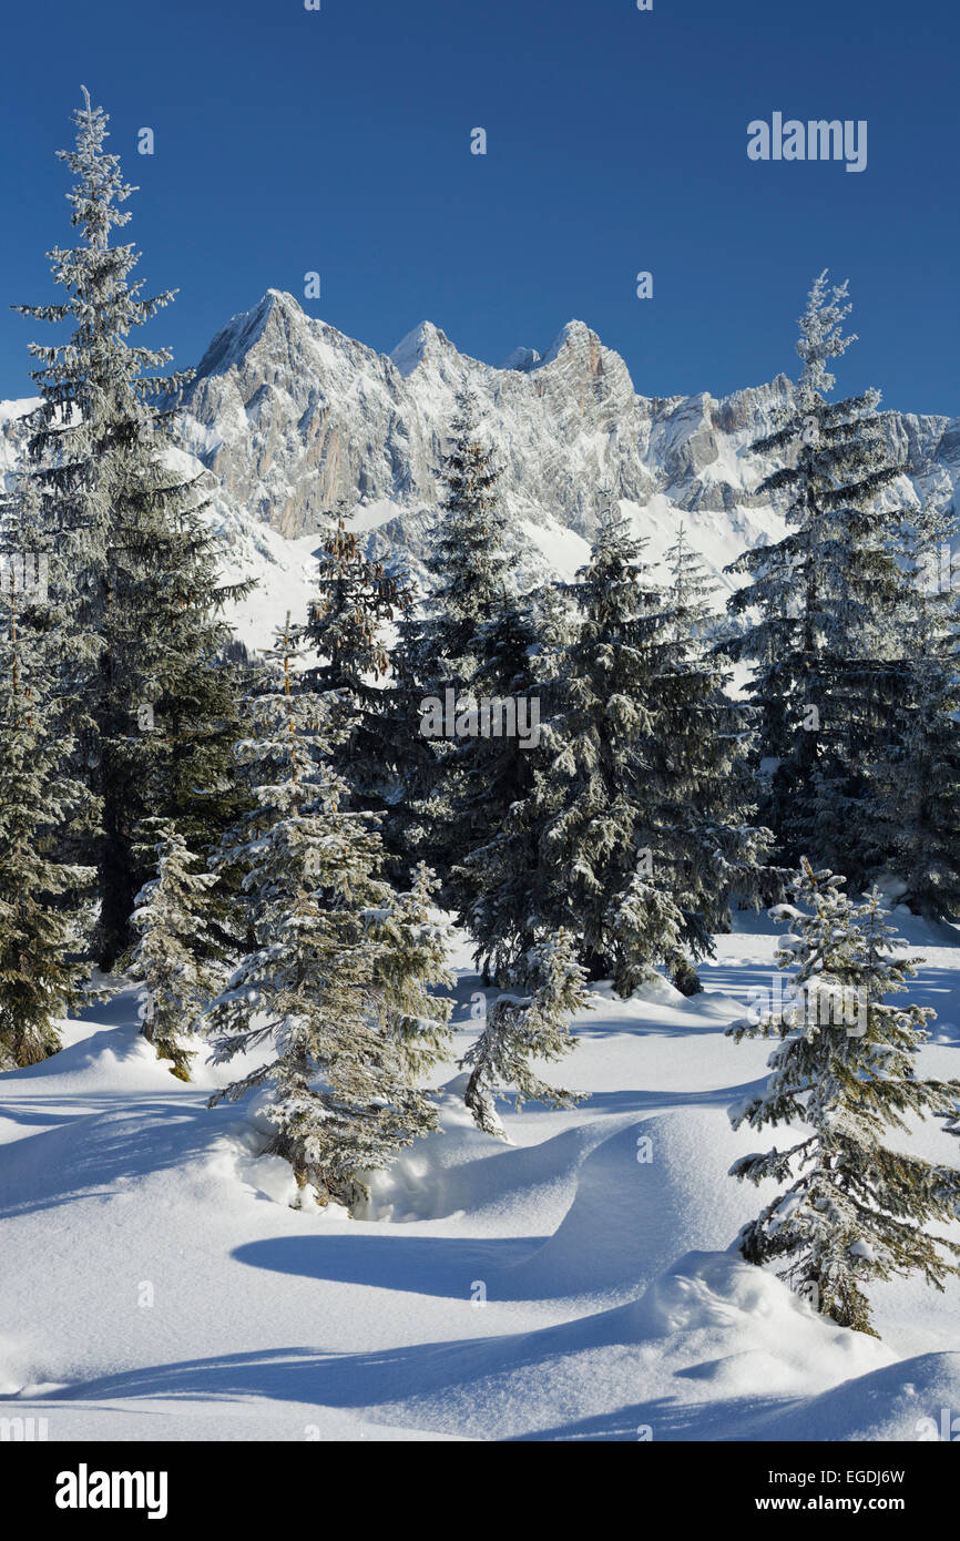
<svg viewBox="0 0 960 1541">
<path fill-rule="evenodd" d="M 129 972 L 146 986 L 140 1031 L 157 1059 L 173 1062 L 171 1074 L 190 1080 L 193 1053 L 183 1037 L 199 1031 L 227 972 L 210 937 L 210 891 L 217 877 L 168 820 L 145 820 L 143 834 L 154 840 L 157 875 L 137 894 L 133 914 L 140 942 Z"/>
</svg>

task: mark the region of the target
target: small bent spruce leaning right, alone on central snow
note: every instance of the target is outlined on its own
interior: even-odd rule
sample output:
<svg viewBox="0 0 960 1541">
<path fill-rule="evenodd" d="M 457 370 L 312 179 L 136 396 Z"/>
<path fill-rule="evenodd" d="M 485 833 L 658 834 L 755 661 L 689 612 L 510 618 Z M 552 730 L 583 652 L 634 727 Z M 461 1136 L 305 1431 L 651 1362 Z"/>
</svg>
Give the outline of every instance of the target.
<svg viewBox="0 0 960 1541">
<path fill-rule="evenodd" d="M 496 1000 L 479 1037 L 461 1060 L 470 1069 L 464 1102 L 473 1122 L 498 1139 L 507 1137 L 495 1106 L 495 1093 L 504 1086 L 515 1088 L 518 1111 L 524 1102 L 572 1108 L 587 1096 L 550 1086 L 532 1065 L 533 1060 L 559 1060 L 575 1049 L 570 1019 L 590 1009 L 575 938 L 559 931 L 549 942 L 536 943 L 515 969 L 515 979 L 516 992 Z"/>
</svg>

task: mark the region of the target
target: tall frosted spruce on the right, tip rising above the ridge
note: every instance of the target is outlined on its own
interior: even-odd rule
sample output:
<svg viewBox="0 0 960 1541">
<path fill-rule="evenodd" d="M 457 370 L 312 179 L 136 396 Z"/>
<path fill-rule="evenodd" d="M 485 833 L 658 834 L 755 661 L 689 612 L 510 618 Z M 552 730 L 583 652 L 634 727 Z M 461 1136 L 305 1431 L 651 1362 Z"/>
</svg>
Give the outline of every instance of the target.
<svg viewBox="0 0 960 1541">
<path fill-rule="evenodd" d="M 901 579 L 891 550 L 898 521 L 877 507 L 898 475 L 884 450 L 878 393 L 826 399 L 831 361 L 855 341 L 843 334 L 846 293 L 846 284 L 827 291 L 826 273 L 814 284 L 800 319 L 800 381 L 774 431 L 754 444 L 784 462 L 758 493 L 786 499 L 789 532 L 730 564 L 750 578 L 729 601 L 747 624 L 723 646 L 754 664 L 760 817 L 774 831 L 775 857 L 795 866 L 807 851 L 854 880 L 864 874 L 874 817 L 860 760 L 888 689 L 874 623 Z"/>
</svg>

